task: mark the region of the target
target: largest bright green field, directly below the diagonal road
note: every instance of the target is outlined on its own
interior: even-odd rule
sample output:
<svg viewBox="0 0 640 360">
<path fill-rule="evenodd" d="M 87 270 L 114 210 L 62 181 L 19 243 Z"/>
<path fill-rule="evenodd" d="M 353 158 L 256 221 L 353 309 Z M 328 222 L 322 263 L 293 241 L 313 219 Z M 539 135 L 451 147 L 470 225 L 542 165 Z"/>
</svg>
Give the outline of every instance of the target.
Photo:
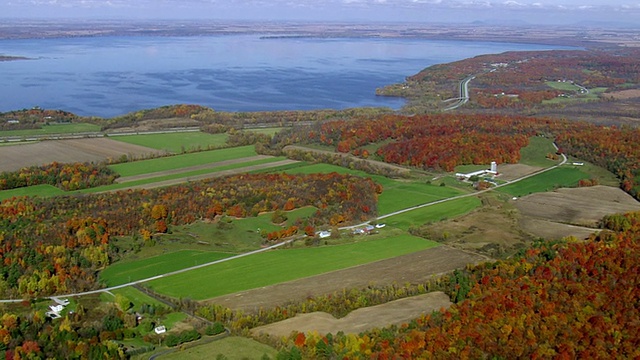
<svg viewBox="0 0 640 360">
<path fill-rule="evenodd" d="M 399 235 L 345 245 L 280 249 L 147 284 L 162 294 L 203 300 L 393 258 L 434 246 L 437 243 L 411 235 Z"/>
</svg>

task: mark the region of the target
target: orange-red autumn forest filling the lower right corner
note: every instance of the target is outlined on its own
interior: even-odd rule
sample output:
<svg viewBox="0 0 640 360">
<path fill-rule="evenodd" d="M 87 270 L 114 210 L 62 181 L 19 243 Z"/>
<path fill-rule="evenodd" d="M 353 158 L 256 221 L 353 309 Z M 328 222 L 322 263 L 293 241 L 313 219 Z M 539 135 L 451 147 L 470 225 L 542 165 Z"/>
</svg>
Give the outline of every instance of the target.
<svg viewBox="0 0 640 360">
<path fill-rule="evenodd" d="M 540 243 L 479 265 L 463 301 L 400 327 L 292 334 L 288 358 L 632 359 L 640 356 L 640 213 L 588 241 Z"/>
</svg>

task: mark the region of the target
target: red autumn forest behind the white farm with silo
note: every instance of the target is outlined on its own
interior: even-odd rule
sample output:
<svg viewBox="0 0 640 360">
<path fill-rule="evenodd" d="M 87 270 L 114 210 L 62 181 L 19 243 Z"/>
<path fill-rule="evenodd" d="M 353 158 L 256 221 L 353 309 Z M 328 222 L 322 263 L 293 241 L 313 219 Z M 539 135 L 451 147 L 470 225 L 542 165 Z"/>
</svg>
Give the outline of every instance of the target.
<svg viewBox="0 0 640 360">
<path fill-rule="evenodd" d="M 383 115 L 294 127 L 256 149 L 279 153 L 286 145 L 321 144 L 363 159 L 453 171 L 458 165 L 517 163 L 531 136 L 552 138 L 558 153 L 606 168 L 624 191 L 640 198 L 640 130 L 628 126 L 497 114 Z"/>
</svg>

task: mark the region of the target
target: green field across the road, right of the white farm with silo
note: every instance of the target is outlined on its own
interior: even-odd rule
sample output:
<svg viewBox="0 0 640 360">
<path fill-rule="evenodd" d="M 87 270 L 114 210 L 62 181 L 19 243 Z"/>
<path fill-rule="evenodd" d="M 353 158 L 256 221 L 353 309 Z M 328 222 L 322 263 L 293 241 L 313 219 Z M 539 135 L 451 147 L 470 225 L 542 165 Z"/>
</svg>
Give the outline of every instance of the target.
<svg viewBox="0 0 640 360">
<path fill-rule="evenodd" d="M 518 181 L 515 184 L 503 186 L 500 192 L 512 196 L 525 196 L 537 192 L 552 191 L 559 187 L 575 187 L 580 179 L 590 179 L 591 176 L 577 167 L 562 166 L 542 174 Z"/>
</svg>

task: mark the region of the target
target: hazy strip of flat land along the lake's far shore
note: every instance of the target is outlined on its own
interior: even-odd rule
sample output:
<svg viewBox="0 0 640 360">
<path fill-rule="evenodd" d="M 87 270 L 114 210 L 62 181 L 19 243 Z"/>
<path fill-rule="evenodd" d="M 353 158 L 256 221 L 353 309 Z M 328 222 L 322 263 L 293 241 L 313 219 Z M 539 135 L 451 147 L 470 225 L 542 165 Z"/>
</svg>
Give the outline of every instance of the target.
<svg viewBox="0 0 640 360">
<path fill-rule="evenodd" d="M 637 29 L 418 23 L 299 23 L 220 21 L 66 21 L 13 20 L 0 39 L 53 39 L 103 36 L 257 35 L 270 38 L 397 38 L 485 41 L 575 47 L 640 47 Z M 612 36 L 615 34 L 615 36 Z"/>
</svg>

